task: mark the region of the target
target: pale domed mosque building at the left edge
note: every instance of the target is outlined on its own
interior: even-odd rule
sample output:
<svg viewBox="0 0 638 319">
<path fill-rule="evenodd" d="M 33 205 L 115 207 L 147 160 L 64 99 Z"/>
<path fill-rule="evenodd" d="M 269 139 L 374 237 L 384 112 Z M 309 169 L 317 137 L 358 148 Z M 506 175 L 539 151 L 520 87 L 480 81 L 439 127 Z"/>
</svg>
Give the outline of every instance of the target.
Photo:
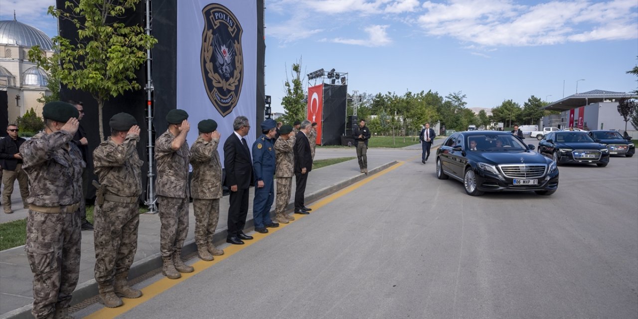
<svg viewBox="0 0 638 319">
<path fill-rule="evenodd" d="M 47 73 L 29 61 L 29 49 L 39 45 L 47 57 L 54 54 L 47 34 L 15 20 L 0 21 L 0 91 L 8 95 L 8 120 L 15 121 L 33 108 L 42 114 L 38 98 L 50 94 Z"/>
</svg>

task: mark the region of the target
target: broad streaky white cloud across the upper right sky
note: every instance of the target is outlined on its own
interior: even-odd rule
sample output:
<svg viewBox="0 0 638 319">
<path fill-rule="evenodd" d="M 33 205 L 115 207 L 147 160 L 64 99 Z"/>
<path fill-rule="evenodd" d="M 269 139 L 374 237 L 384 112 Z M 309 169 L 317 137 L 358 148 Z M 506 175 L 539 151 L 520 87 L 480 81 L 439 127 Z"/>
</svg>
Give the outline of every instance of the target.
<svg viewBox="0 0 638 319">
<path fill-rule="evenodd" d="M 488 47 L 627 40 L 638 37 L 637 7 L 631 0 L 549 1 L 534 6 L 508 0 L 426 1 L 427 13 L 419 22 L 433 36 L 452 36 Z"/>
</svg>

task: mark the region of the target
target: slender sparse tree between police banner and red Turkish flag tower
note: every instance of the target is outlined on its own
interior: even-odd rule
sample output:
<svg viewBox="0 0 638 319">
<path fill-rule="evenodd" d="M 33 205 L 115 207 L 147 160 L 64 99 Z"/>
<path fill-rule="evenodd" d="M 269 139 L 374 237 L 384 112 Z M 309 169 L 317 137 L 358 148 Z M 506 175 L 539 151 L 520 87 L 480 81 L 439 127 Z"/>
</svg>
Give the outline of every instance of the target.
<svg viewBox="0 0 638 319">
<path fill-rule="evenodd" d="M 285 93 L 281 99 L 284 114 L 281 121 L 292 124 L 295 121 L 303 121 L 306 119 L 306 102 L 304 99 L 303 77 L 301 76 L 301 59 L 292 64 L 292 80 L 286 77 Z"/>
</svg>

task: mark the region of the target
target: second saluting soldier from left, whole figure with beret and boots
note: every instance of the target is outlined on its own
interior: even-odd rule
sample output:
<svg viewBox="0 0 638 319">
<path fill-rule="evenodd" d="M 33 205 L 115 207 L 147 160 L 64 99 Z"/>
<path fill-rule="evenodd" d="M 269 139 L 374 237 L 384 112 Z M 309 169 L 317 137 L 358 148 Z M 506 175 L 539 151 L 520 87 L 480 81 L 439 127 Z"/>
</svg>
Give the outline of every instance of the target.
<svg viewBox="0 0 638 319">
<path fill-rule="evenodd" d="M 118 113 L 108 124 L 110 138 L 93 151 L 93 167 L 99 181 L 94 182 L 98 189 L 93 214 L 94 272 L 102 302 L 114 308 L 122 306 L 119 297 L 142 296 L 126 281 L 137 251 L 142 160 L 137 154 L 140 127 L 135 117 Z"/>
</svg>

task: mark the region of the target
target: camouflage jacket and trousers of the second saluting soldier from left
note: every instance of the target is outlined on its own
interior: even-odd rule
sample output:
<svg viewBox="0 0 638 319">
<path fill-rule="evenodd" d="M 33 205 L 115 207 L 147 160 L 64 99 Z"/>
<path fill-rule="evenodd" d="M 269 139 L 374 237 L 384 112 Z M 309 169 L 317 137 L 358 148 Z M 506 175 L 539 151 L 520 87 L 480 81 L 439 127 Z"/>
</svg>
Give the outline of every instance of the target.
<svg viewBox="0 0 638 319">
<path fill-rule="evenodd" d="M 142 195 L 139 140 L 138 135 L 127 135 L 118 145 L 108 139 L 93 151 L 104 198 L 101 204 L 100 198 L 96 200 L 93 215 L 95 281 L 100 285 L 112 285 L 114 277 L 126 274 L 137 251 L 138 199 Z"/>
</svg>

